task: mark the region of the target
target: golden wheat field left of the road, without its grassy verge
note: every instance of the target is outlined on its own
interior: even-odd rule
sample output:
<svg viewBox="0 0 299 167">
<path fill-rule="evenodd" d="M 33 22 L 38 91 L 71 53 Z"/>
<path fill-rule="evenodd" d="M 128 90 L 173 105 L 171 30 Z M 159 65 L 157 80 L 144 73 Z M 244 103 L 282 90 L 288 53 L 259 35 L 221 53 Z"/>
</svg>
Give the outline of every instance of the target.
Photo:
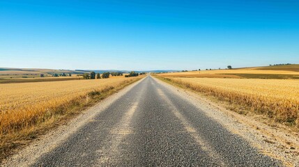
<svg viewBox="0 0 299 167">
<path fill-rule="evenodd" d="M 0 85 L 0 133 L 26 127 L 31 120 L 77 97 L 132 81 L 125 77 Z M 86 96 L 86 101 L 89 97 Z"/>
</svg>

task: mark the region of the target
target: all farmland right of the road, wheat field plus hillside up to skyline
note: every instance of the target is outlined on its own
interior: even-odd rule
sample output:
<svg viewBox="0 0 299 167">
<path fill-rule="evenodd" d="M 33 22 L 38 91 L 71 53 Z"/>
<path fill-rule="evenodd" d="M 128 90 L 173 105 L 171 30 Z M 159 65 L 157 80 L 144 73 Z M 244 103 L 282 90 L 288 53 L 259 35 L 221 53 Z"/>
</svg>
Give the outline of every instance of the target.
<svg viewBox="0 0 299 167">
<path fill-rule="evenodd" d="M 158 74 L 167 81 L 229 102 L 239 113 L 256 113 L 299 127 L 299 65 Z M 272 69 L 272 70 L 269 70 Z M 282 70 L 284 69 L 284 70 Z M 225 77 L 227 75 L 227 77 Z"/>
</svg>

